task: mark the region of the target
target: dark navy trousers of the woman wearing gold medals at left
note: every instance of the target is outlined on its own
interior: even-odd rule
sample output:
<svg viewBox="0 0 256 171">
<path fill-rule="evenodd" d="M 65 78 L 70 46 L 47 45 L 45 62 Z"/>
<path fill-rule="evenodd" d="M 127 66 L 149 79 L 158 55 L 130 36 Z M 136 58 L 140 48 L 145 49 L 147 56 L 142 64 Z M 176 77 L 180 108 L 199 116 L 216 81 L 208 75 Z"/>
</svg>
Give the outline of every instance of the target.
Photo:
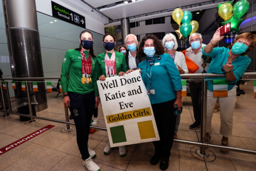
<svg viewBox="0 0 256 171">
<path fill-rule="evenodd" d="M 70 98 L 70 113 L 74 118 L 76 126 L 76 141 L 82 159 L 89 158 L 88 138 L 90 122 L 94 113 L 95 95 L 94 91 L 86 95 L 68 92 Z"/>
</svg>

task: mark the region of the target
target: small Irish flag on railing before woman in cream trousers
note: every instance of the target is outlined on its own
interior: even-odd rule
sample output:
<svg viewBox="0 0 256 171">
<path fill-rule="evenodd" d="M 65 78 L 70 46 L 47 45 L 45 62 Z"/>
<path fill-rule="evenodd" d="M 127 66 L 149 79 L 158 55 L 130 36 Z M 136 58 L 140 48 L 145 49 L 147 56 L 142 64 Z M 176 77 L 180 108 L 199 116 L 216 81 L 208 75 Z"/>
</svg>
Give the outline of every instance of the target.
<svg viewBox="0 0 256 171">
<path fill-rule="evenodd" d="M 227 97 L 228 83 L 224 80 L 213 80 L 213 97 Z"/>
</svg>

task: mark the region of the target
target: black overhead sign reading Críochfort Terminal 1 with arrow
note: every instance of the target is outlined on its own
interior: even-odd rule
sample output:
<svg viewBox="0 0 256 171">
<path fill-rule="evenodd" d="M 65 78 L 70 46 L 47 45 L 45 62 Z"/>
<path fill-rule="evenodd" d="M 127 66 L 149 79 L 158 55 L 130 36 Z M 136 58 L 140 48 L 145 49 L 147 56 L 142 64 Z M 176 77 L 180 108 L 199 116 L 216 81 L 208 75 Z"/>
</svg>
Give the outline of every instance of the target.
<svg viewBox="0 0 256 171">
<path fill-rule="evenodd" d="M 55 2 L 52 2 L 52 16 L 85 28 L 85 17 L 67 9 Z"/>
</svg>

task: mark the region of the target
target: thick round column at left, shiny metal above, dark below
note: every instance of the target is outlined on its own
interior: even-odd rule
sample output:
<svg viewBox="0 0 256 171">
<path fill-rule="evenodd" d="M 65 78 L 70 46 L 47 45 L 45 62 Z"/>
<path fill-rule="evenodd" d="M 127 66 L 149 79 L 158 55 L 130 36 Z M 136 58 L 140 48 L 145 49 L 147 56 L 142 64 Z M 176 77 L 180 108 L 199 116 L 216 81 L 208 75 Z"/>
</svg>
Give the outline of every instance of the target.
<svg viewBox="0 0 256 171">
<path fill-rule="evenodd" d="M 35 0 L 2 1 L 13 78 L 44 77 Z M 44 80 L 37 80 L 39 92 L 33 92 L 32 82 L 28 84 L 39 103 L 36 111 L 47 108 L 45 83 L 40 81 Z M 16 87 L 15 96 L 26 93 L 20 82 Z"/>
</svg>

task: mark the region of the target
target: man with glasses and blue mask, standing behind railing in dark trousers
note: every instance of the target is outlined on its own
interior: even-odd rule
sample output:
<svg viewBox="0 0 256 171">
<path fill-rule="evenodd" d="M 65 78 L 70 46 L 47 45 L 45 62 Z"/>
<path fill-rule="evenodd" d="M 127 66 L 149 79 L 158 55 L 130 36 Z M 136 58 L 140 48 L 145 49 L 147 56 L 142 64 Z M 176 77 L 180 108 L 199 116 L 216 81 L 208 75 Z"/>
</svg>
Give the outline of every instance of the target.
<svg viewBox="0 0 256 171">
<path fill-rule="evenodd" d="M 185 56 L 198 66 L 198 69 L 193 72 L 195 74 L 206 73 L 210 64 L 209 58 L 202 55 L 202 47 L 206 46 L 202 44 L 202 41 L 203 39 L 200 33 L 193 33 L 189 36 L 189 44 L 191 47 L 184 51 Z M 188 64 L 187 67 L 189 68 Z M 197 129 L 201 126 L 202 78 L 190 78 L 189 89 L 195 118 L 195 122 L 189 126 L 189 129 Z"/>
</svg>

